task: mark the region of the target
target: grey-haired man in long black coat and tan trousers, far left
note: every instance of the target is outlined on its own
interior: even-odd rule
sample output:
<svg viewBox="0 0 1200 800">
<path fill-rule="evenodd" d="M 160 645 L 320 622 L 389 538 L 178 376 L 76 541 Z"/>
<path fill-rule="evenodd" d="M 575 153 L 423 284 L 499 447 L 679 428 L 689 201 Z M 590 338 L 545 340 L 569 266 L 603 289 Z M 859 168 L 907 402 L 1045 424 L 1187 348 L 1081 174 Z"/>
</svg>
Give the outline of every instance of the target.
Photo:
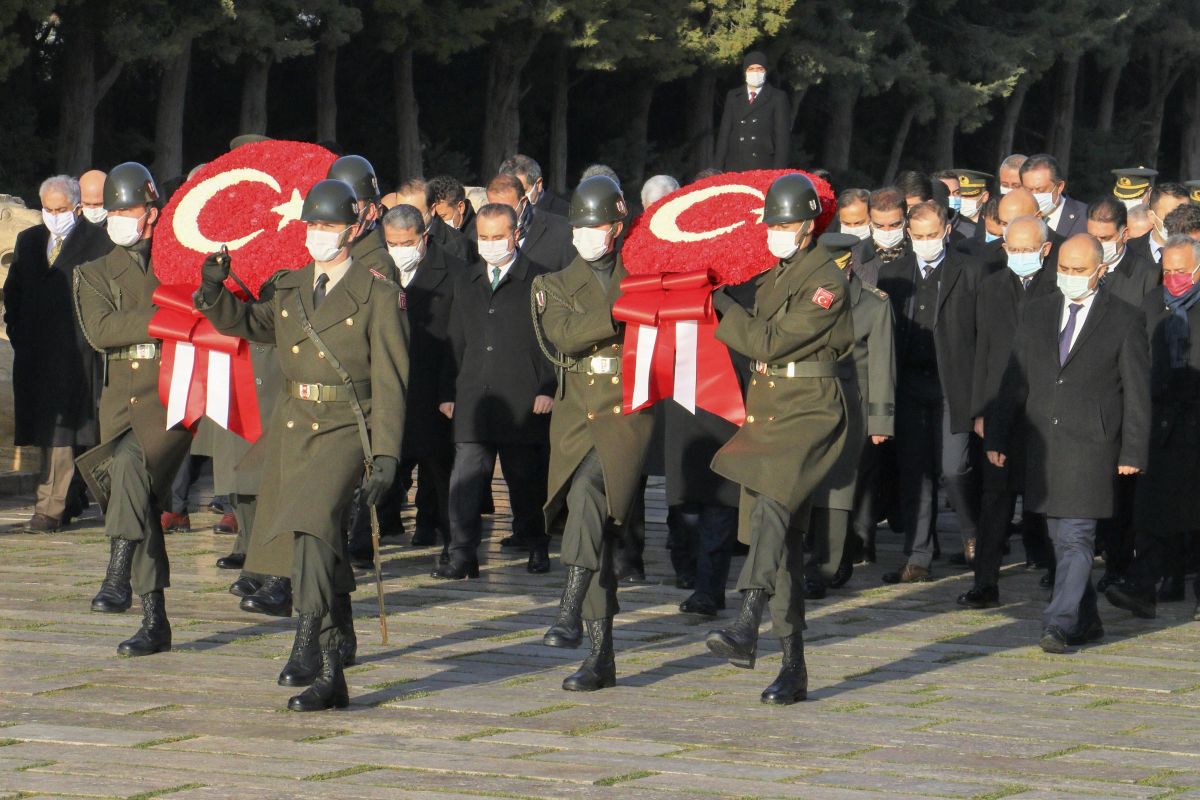
<svg viewBox="0 0 1200 800">
<path fill-rule="evenodd" d="M 79 182 L 70 175 L 48 178 L 38 198 L 42 224 L 17 235 L 4 319 L 13 350 L 13 444 L 38 447 L 42 456 L 34 516 L 24 528 L 48 533 L 83 511 L 74 457 L 100 440 L 101 359 L 79 330 L 71 284 L 76 267 L 108 253 L 113 242 L 80 215 Z"/>
</svg>

